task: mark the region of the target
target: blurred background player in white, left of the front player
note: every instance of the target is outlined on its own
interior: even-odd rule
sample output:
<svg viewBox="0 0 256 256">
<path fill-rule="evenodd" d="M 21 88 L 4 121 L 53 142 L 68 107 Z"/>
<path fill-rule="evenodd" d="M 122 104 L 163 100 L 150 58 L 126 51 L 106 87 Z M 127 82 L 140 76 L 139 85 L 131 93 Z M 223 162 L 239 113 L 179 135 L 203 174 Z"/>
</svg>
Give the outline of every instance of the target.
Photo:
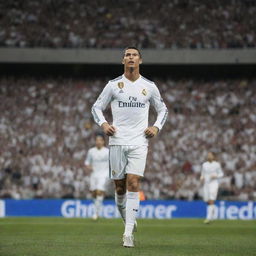
<svg viewBox="0 0 256 256">
<path fill-rule="evenodd" d="M 94 220 L 97 220 L 100 216 L 108 181 L 109 149 L 104 145 L 104 135 L 97 134 L 95 147 L 89 149 L 85 160 L 86 168 L 92 170 L 90 176 L 90 190 L 94 198 L 95 212 L 92 217 Z"/>
</svg>

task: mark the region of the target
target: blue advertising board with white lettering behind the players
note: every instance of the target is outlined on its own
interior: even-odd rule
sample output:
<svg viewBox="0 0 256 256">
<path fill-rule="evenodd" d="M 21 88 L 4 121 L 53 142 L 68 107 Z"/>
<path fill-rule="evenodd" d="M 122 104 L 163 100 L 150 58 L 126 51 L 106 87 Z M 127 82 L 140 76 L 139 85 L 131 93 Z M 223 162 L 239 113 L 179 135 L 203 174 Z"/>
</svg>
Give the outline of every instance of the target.
<svg viewBox="0 0 256 256">
<path fill-rule="evenodd" d="M 74 199 L 33 199 L 33 200 L 0 200 L 0 217 L 65 217 L 90 218 L 94 207 L 91 200 Z M 102 217 L 118 218 L 119 214 L 113 200 L 105 200 Z M 203 201 L 142 201 L 139 218 L 204 218 L 206 204 Z M 217 201 L 215 204 L 216 219 L 256 219 L 256 202 Z"/>
</svg>

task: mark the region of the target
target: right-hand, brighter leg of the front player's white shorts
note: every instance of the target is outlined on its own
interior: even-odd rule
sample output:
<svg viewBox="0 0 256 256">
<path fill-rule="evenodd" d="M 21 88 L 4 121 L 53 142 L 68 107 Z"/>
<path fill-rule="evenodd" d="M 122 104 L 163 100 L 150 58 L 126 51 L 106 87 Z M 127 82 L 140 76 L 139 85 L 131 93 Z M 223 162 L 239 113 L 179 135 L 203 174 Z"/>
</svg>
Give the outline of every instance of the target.
<svg viewBox="0 0 256 256">
<path fill-rule="evenodd" d="M 130 147 L 127 153 L 128 162 L 125 168 L 126 174 L 134 174 L 143 177 L 146 166 L 147 154 L 147 146 Z"/>
</svg>

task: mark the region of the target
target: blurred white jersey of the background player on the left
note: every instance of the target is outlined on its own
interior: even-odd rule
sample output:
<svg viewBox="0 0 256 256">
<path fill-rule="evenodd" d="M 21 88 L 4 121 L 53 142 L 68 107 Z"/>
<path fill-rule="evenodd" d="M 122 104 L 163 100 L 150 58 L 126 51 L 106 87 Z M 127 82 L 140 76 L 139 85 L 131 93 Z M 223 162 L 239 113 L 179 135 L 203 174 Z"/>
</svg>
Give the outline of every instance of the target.
<svg viewBox="0 0 256 256">
<path fill-rule="evenodd" d="M 106 147 L 89 149 L 85 165 L 92 166 L 92 175 L 107 177 L 109 174 L 109 149 Z"/>
</svg>

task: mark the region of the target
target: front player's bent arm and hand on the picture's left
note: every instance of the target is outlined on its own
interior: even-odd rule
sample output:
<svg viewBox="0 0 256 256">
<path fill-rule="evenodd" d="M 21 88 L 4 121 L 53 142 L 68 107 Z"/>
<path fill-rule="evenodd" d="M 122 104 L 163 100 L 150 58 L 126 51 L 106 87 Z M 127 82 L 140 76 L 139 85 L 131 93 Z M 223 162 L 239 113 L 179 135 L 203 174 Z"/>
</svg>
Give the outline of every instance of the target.
<svg viewBox="0 0 256 256">
<path fill-rule="evenodd" d="M 92 115 L 94 121 L 102 127 L 104 133 L 108 136 L 114 135 L 115 128 L 106 121 L 103 111 L 106 109 L 112 97 L 113 94 L 111 84 L 108 83 L 92 106 Z"/>
</svg>

